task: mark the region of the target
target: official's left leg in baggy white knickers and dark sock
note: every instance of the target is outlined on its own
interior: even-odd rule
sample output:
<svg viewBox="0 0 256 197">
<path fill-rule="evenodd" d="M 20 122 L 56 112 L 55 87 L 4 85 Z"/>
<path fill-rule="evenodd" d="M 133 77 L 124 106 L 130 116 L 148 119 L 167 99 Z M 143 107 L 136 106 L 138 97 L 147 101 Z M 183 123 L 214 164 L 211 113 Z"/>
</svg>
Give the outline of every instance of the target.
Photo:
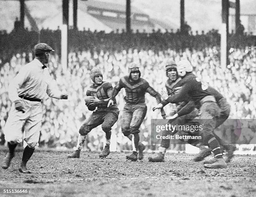
<svg viewBox="0 0 256 197">
<path fill-rule="evenodd" d="M 14 103 L 11 106 L 8 119 L 4 127 L 5 140 L 7 141 L 9 152 L 5 156 L 4 163 L 2 165 L 3 169 L 7 169 L 10 166 L 17 144 L 23 141 L 22 127 L 26 118 L 29 116 L 29 113 L 28 107 L 26 107 L 25 113 L 22 113 L 15 109 Z"/>
</svg>

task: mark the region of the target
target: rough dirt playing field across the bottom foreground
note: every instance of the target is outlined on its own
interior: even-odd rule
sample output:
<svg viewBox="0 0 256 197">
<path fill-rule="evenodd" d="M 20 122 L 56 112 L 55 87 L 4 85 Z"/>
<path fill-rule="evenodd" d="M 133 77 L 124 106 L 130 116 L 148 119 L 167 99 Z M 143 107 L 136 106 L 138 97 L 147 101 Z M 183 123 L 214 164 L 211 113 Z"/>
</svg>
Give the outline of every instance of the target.
<svg viewBox="0 0 256 197">
<path fill-rule="evenodd" d="M 0 162 L 7 149 L 0 148 Z M 21 174 L 16 153 L 9 169 L 0 169 L 0 189 L 28 188 L 31 197 L 241 197 L 256 196 L 256 155 L 236 156 L 226 169 L 205 169 L 192 154 L 166 154 L 166 162 L 125 160 L 128 153 L 82 152 L 80 159 L 66 159 L 71 151 L 36 150 L 28 163 L 33 174 Z M 15 196 L 15 195 L 0 195 Z"/>
</svg>

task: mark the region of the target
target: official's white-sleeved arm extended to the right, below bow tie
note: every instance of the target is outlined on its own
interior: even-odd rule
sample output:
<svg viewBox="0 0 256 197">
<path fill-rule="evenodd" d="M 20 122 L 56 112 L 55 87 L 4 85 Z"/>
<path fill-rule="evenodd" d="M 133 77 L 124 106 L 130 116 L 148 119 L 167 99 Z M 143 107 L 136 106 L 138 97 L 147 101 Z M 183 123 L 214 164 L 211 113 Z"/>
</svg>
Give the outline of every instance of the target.
<svg viewBox="0 0 256 197">
<path fill-rule="evenodd" d="M 44 72 L 45 72 L 46 83 L 47 83 L 46 93 L 48 94 L 48 96 L 56 99 L 68 99 L 67 94 L 64 94 L 61 91 L 59 91 L 57 83 L 55 80 L 51 78 L 48 69 L 45 68 Z"/>
</svg>

